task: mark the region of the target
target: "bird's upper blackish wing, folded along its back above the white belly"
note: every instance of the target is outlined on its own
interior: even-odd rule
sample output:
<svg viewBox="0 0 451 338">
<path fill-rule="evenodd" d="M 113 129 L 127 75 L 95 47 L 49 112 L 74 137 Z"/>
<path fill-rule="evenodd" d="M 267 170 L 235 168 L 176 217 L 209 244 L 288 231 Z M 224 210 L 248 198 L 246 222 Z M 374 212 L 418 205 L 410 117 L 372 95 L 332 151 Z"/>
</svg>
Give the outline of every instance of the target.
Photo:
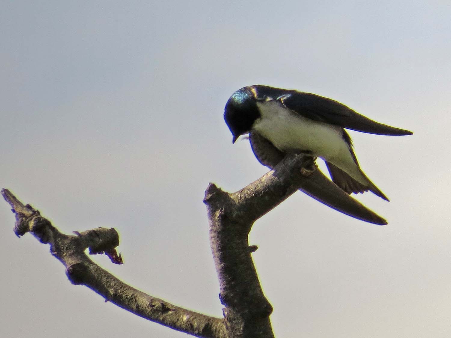
<svg viewBox="0 0 451 338">
<path fill-rule="evenodd" d="M 370 134 L 412 134 L 409 130 L 387 126 L 368 119 L 340 102 L 327 97 L 260 85 L 251 86 L 250 88 L 253 88 L 253 91 L 258 93 L 257 99 L 272 98 L 272 100 L 278 100 L 288 109 L 314 121 L 331 123 L 343 128 Z"/>
</svg>

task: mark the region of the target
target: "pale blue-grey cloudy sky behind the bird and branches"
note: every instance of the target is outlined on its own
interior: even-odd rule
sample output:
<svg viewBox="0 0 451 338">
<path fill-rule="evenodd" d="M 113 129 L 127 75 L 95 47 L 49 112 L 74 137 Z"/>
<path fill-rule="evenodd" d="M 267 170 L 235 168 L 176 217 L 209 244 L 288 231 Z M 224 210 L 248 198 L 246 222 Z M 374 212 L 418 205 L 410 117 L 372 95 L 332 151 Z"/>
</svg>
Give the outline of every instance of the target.
<svg viewBox="0 0 451 338">
<path fill-rule="evenodd" d="M 350 132 L 391 199 L 351 219 L 298 192 L 250 235 L 279 337 L 451 335 L 449 1 L 4 1 L 0 187 L 69 233 L 115 227 L 117 277 L 221 315 L 203 192 L 267 169 L 232 145 L 228 97 L 314 92 L 414 131 Z M 186 337 L 73 286 L 0 202 L 1 337 Z M 301 331 L 299 331 L 301 329 Z"/>
</svg>

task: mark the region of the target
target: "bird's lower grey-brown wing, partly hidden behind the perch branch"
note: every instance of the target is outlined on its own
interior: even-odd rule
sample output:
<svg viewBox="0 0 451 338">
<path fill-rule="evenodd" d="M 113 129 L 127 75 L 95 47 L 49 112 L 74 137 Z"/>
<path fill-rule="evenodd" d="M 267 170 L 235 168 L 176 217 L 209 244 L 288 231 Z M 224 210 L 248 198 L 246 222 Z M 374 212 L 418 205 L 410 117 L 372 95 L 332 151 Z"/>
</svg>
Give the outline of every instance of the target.
<svg viewBox="0 0 451 338">
<path fill-rule="evenodd" d="M 272 169 L 284 158 L 281 151 L 257 132 L 250 132 L 249 139 L 252 151 L 261 164 Z M 373 224 L 387 224 L 385 219 L 354 200 L 319 169 L 306 178 L 304 186 L 299 190 L 343 214 Z"/>
</svg>

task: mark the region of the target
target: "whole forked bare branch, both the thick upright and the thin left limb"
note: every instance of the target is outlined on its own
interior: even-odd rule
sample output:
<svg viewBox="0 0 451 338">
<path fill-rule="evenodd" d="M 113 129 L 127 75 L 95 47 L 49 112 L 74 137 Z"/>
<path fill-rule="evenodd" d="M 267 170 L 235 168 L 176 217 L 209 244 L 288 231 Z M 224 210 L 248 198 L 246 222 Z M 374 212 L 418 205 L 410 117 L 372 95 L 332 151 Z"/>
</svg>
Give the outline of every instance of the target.
<svg viewBox="0 0 451 338">
<path fill-rule="evenodd" d="M 97 228 L 75 235 L 60 233 L 38 210 L 23 205 L 9 190 L 1 191 L 16 216 L 14 233 L 31 233 L 50 244 L 51 254 L 66 267 L 73 284 L 83 284 L 106 301 L 138 316 L 197 337 L 274 337 L 269 315 L 272 306 L 263 295 L 249 246 L 253 222 L 308 182 L 316 167 L 308 156 L 290 154 L 274 170 L 238 192 L 228 193 L 210 183 L 205 192 L 210 244 L 220 283 L 224 318 L 214 318 L 172 305 L 121 282 L 84 253 L 106 253 L 115 264 L 119 235 L 114 228 Z"/>
</svg>

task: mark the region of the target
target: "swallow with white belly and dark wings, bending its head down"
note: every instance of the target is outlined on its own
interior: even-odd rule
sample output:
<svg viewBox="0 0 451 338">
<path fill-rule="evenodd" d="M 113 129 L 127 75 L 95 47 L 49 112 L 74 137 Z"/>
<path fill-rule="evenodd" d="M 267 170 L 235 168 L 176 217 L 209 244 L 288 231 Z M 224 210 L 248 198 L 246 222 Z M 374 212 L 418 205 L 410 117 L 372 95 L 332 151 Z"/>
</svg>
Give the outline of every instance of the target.
<svg viewBox="0 0 451 338">
<path fill-rule="evenodd" d="M 226 103 L 224 119 L 232 133 L 232 143 L 239 136 L 249 133 L 254 155 L 262 164 L 273 168 L 289 152 L 319 157 L 326 162 L 331 176 L 329 182 L 336 184 L 346 194 L 371 191 L 386 201 L 389 201 L 387 196 L 360 168 L 351 138 L 345 129 L 378 135 L 412 134 L 409 130 L 368 119 L 327 97 L 264 85 L 247 86 L 235 91 Z M 329 192 L 327 201 L 324 201 L 322 195 L 327 189 L 337 190 L 326 183 L 324 178 L 320 181 L 321 188 L 307 187 L 304 192 L 355 218 L 387 224 L 373 211 L 354 199 L 346 199 L 342 194 L 335 196 L 334 200 L 333 194 Z M 357 207 L 354 203 L 351 208 L 361 209 L 359 212 L 346 210 L 346 203 L 351 201 L 359 204 Z M 379 219 L 368 220 L 368 215 L 359 216 L 362 207 L 367 209 L 364 213 L 370 211 Z"/>
</svg>

